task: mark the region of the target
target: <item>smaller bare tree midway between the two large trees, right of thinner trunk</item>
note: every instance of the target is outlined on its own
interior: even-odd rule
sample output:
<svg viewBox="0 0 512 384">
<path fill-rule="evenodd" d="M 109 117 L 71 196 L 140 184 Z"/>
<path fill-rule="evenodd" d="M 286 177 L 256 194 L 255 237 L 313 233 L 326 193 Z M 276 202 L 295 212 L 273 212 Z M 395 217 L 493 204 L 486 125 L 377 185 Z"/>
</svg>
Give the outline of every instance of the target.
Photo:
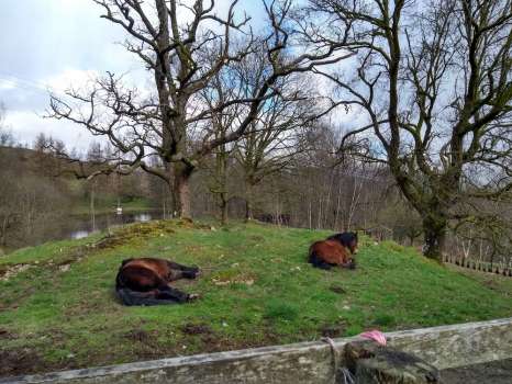
<svg viewBox="0 0 512 384">
<path fill-rule="evenodd" d="M 265 81 L 268 66 L 261 56 L 245 60 L 238 67 L 246 92 Z M 260 104 L 257 117 L 236 143 L 234 158 L 245 183 L 245 218 L 253 218 L 254 190 L 257 184 L 291 165 L 294 157 L 309 149 L 307 134 L 320 116 L 333 108 L 322 100 L 304 74 L 296 74 L 275 84 L 278 94 Z M 315 97 L 316 95 L 316 97 Z"/>
</svg>

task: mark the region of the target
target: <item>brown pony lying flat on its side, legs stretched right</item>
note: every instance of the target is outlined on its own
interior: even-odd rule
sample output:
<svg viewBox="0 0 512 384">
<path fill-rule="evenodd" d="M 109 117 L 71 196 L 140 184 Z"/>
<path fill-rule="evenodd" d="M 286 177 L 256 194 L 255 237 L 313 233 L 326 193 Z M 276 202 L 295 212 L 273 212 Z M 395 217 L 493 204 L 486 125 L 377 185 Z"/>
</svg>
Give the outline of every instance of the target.
<svg viewBox="0 0 512 384">
<path fill-rule="evenodd" d="M 140 258 L 123 260 L 115 278 L 115 291 L 124 305 L 180 304 L 198 297 L 169 285 L 179 279 L 196 279 L 199 268 L 177 262 Z"/>
</svg>

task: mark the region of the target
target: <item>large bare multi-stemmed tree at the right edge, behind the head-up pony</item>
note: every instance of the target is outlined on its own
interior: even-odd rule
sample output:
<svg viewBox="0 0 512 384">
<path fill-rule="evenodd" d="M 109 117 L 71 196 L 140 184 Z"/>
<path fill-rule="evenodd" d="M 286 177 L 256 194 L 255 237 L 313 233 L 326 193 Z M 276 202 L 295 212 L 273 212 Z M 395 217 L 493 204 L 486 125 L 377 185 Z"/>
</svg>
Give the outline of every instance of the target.
<svg viewBox="0 0 512 384">
<path fill-rule="evenodd" d="M 366 143 L 358 155 L 389 166 L 422 218 L 424 255 L 441 260 L 450 223 L 480 219 L 476 200 L 510 199 L 511 1 L 311 0 L 309 7 L 316 20 L 302 23 L 304 35 L 356 54 L 353 71 L 316 70 L 365 115 L 341 151 Z"/>
</svg>

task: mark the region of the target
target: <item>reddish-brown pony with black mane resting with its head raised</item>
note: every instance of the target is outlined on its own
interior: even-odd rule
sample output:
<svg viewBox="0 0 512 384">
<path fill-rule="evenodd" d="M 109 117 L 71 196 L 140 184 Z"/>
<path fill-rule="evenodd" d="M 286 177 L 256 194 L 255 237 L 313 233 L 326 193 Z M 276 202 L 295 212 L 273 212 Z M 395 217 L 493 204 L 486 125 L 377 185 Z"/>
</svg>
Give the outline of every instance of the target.
<svg viewBox="0 0 512 384">
<path fill-rule="evenodd" d="M 315 241 L 311 245 L 308 262 L 325 270 L 335 266 L 355 269 L 354 256 L 357 253 L 357 234 L 355 233 L 330 236 L 326 240 Z"/>
</svg>

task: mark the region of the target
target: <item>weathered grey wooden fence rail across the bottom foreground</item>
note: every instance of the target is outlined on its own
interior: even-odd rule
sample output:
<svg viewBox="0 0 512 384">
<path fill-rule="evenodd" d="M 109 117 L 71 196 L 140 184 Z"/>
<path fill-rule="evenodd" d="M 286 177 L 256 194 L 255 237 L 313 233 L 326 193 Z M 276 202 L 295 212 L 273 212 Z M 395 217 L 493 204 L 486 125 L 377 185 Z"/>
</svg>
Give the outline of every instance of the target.
<svg viewBox="0 0 512 384">
<path fill-rule="evenodd" d="M 437 369 L 512 358 L 512 318 L 390 332 L 388 345 Z M 334 383 L 334 360 L 359 338 L 302 342 L 241 351 L 0 380 L 4 383 Z"/>
</svg>

